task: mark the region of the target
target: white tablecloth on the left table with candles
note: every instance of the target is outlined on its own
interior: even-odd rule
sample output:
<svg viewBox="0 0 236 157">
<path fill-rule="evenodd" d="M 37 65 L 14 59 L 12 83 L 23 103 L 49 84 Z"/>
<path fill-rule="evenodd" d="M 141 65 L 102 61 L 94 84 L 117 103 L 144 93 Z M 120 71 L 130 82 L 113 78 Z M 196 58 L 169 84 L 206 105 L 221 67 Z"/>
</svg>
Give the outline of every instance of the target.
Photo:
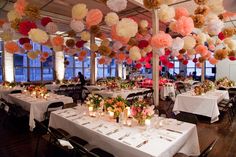
<svg viewBox="0 0 236 157">
<path fill-rule="evenodd" d="M 35 127 L 34 119 L 39 121 L 44 120 L 44 113 L 47 111 L 47 107 L 53 102 L 63 102 L 64 104 L 73 103 L 71 97 L 66 97 L 64 95 L 56 95 L 50 93 L 50 96 L 46 99 L 33 98 L 26 94 L 9 94 L 8 100 L 21 106 L 24 110 L 30 112 L 29 116 L 29 126 L 32 130 Z"/>
</svg>

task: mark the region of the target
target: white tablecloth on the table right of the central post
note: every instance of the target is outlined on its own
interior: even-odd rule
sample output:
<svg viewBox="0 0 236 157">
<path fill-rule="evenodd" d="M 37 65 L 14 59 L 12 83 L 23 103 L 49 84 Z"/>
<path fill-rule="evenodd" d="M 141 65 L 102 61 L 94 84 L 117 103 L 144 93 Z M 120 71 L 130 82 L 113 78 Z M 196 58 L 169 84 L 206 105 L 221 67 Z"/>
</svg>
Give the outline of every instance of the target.
<svg viewBox="0 0 236 157">
<path fill-rule="evenodd" d="M 221 100 L 228 99 L 228 91 L 214 90 L 205 95 L 194 96 L 193 92 L 186 92 L 177 95 L 173 112 L 179 111 L 194 113 L 211 118 L 211 122 L 218 121 L 220 115 L 218 105 Z"/>
</svg>

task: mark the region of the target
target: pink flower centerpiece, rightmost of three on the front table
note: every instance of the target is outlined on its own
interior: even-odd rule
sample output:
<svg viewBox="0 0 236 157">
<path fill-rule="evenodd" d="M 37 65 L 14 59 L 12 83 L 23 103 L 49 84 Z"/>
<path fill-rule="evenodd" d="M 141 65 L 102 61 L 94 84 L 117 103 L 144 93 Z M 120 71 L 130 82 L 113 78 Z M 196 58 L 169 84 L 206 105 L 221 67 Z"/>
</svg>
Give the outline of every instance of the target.
<svg viewBox="0 0 236 157">
<path fill-rule="evenodd" d="M 140 125 L 144 125 L 146 119 L 151 119 L 154 115 L 154 106 L 149 106 L 143 99 L 138 99 L 131 106 L 131 115 Z"/>
</svg>

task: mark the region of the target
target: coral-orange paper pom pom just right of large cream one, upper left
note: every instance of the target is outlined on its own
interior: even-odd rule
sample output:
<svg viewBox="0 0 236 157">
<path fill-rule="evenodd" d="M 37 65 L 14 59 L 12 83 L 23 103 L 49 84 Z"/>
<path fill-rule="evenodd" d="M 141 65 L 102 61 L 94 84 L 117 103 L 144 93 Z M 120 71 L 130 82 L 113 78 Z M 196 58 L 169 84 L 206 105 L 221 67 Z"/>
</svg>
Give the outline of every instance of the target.
<svg viewBox="0 0 236 157">
<path fill-rule="evenodd" d="M 86 16 L 86 25 L 90 28 L 102 22 L 103 14 L 99 9 L 91 9 Z"/>
</svg>

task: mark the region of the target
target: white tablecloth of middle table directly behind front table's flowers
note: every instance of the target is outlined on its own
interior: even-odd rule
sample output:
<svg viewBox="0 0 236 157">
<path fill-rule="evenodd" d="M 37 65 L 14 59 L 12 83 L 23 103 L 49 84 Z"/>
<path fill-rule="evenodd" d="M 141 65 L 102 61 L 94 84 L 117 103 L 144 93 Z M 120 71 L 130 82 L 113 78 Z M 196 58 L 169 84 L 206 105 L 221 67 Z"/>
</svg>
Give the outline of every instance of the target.
<svg viewBox="0 0 236 157">
<path fill-rule="evenodd" d="M 93 94 L 99 94 L 104 98 L 112 97 L 115 98 L 117 96 L 121 96 L 122 98 L 126 99 L 127 96 L 131 93 L 138 93 L 138 92 L 144 92 L 150 90 L 148 88 L 137 88 L 137 89 L 131 89 L 131 90 L 120 90 L 120 91 L 109 91 L 109 90 L 100 90 L 100 91 L 93 91 Z"/>
</svg>

